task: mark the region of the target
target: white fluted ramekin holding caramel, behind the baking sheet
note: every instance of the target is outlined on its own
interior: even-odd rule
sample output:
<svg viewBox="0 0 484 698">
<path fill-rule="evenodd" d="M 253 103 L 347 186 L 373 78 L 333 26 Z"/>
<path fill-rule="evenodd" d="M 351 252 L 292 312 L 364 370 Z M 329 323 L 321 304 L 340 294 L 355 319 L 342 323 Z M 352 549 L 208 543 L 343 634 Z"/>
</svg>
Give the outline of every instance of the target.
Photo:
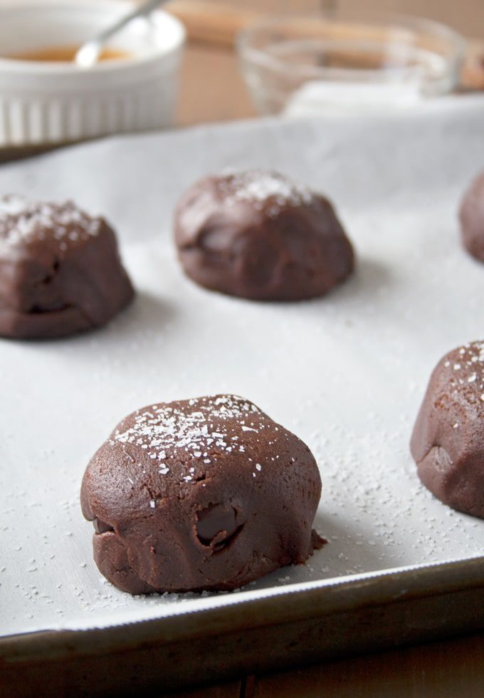
<svg viewBox="0 0 484 698">
<path fill-rule="evenodd" d="M 130 11 L 126 0 L 14 0 L 0 6 L 2 56 L 83 43 Z M 172 123 L 185 41 L 163 11 L 133 21 L 109 45 L 132 57 L 84 70 L 0 58 L 0 147 L 70 142 Z"/>
</svg>

